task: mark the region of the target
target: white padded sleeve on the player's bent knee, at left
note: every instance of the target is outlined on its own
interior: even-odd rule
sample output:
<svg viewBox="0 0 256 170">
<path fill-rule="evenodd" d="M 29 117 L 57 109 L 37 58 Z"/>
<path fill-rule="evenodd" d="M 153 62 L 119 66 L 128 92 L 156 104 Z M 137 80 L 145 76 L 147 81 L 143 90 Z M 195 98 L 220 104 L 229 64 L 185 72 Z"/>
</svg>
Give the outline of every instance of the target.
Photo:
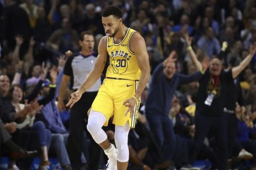
<svg viewBox="0 0 256 170">
<path fill-rule="evenodd" d="M 98 144 L 107 139 L 107 134 L 102 130 L 102 126 L 106 120 L 107 118 L 102 113 L 94 112 L 91 109 L 86 127 L 94 141 Z"/>
</svg>

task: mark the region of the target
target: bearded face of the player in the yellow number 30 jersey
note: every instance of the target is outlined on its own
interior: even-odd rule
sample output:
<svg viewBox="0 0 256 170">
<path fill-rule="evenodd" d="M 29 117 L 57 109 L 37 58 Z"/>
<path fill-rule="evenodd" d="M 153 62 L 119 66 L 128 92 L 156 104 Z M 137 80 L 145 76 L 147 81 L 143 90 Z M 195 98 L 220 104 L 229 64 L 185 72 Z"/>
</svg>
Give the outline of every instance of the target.
<svg viewBox="0 0 256 170">
<path fill-rule="evenodd" d="M 102 24 L 105 29 L 105 33 L 109 37 L 115 37 L 116 33 L 119 30 L 119 25 L 122 22 L 122 19 L 117 19 L 113 15 L 107 17 L 102 16 Z"/>
</svg>

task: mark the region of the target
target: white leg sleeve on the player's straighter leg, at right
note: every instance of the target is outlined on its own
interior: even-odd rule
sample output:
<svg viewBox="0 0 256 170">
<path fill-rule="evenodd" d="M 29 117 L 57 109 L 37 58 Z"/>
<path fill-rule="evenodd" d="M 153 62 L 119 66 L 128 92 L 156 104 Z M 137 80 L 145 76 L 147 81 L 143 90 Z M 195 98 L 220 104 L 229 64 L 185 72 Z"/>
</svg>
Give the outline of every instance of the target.
<svg viewBox="0 0 256 170">
<path fill-rule="evenodd" d="M 128 162 L 128 134 L 130 126 L 126 123 L 124 126 L 115 126 L 115 143 L 117 149 L 117 160 L 119 162 Z"/>
</svg>

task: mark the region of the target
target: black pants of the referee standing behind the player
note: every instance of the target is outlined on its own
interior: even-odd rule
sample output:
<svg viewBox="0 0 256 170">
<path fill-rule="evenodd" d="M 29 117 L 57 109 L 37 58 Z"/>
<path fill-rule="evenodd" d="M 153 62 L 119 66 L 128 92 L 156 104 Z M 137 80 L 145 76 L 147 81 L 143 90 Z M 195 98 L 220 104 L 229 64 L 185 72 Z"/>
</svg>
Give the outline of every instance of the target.
<svg viewBox="0 0 256 170">
<path fill-rule="evenodd" d="M 71 108 L 67 148 L 70 162 L 74 169 L 79 169 L 83 166 L 81 162 L 81 155 L 83 150 L 83 133 L 84 131 L 87 131 L 87 111 L 91 107 L 97 93 L 98 91 L 85 92 L 81 99 Z M 87 133 L 87 138 L 90 139 L 89 169 L 98 169 L 101 148 L 92 139 L 90 133 Z"/>
</svg>

